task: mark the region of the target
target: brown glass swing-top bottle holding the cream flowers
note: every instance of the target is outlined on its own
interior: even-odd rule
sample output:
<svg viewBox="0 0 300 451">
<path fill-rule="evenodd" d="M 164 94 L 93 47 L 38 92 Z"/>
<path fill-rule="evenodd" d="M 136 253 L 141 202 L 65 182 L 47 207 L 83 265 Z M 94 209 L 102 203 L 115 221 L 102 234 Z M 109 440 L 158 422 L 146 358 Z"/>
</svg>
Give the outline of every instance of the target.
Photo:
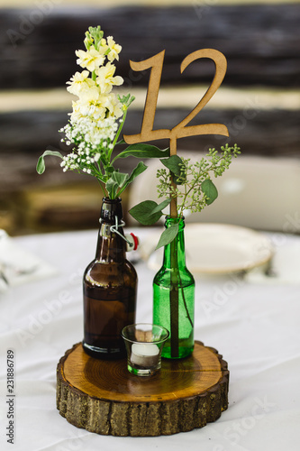
<svg viewBox="0 0 300 451">
<path fill-rule="evenodd" d="M 123 218 L 121 199 L 104 198 L 95 260 L 84 273 L 86 354 L 100 359 L 125 356 L 121 331 L 135 322 L 137 274 L 126 260 L 126 242 L 111 231 Z M 118 227 L 123 235 L 123 228 Z"/>
</svg>

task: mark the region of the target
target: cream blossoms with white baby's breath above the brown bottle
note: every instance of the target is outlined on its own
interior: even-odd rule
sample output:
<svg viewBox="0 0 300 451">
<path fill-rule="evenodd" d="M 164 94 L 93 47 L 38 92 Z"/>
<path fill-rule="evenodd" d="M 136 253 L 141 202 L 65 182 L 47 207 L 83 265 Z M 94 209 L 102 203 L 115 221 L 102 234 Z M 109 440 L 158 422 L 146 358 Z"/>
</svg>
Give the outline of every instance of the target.
<svg viewBox="0 0 300 451">
<path fill-rule="evenodd" d="M 88 41 L 86 51 L 76 51 L 77 64 L 84 68 L 67 82 L 68 92 L 78 99 L 72 102 L 70 119 L 61 132 L 65 143 L 74 148 L 61 161 L 63 171 L 77 170 L 98 177 L 102 155 L 114 149 L 114 139 L 124 114 L 123 105 L 112 93 L 114 86 L 123 84 L 123 78 L 114 76 L 112 61 L 119 60 L 122 47 L 112 36 Z M 107 57 L 107 62 L 105 60 Z M 91 74 L 93 72 L 93 74 Z"/>
</svg>

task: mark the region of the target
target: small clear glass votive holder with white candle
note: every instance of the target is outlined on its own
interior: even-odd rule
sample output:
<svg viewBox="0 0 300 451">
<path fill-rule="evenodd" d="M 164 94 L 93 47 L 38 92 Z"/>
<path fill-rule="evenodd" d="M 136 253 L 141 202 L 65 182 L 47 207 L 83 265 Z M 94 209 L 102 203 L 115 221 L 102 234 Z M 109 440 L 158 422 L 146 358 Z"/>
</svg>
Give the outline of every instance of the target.
<svg viewBox="0 0 300 451">
<path fill-rule="evenodd" d="M 161 367 L 161 351 L 168 330 L 156 324 L 132 324 L 123 328 L 127 351 L 127 369 L 138 376 L 151 376 Z"/>
</svg>

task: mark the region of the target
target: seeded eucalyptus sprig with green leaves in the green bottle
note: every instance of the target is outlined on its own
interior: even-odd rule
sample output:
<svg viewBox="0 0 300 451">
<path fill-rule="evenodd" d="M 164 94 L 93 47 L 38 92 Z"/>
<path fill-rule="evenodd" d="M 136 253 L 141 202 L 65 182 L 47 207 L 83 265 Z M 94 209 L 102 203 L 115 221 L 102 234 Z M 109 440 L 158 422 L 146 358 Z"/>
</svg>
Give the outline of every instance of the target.
<svg viewBox="0 0 300 451">
<path fill-rule="evenodd" d="M 173 241 L 177 235 L 178 224 L 187 210 L 191 213 L 199 212 L 214 202 L 218 191 L 212 177 L 222 176 L 224 170 L 229 168 L 232 158 L 236 158 L 240 153 L 237 144 L 232 147 L 226 144 L 221 147 L 220 153 L 210 149 L 206 154 L 208 158 L 202 158 L 200 161 L 191 162 L 190 159 L 180 158 L 178 155 L 160 159 L 165 168 L 157 170 L 158 197 L 166 199 L 159 204 L 154 200 L 144 200 L 129 211 L 142 225 L 151 226 L 163 216 L 162 211 L 171 199 L 177 198 L 178 221 L 162 233 L 157 249 Z"/>
</svg>

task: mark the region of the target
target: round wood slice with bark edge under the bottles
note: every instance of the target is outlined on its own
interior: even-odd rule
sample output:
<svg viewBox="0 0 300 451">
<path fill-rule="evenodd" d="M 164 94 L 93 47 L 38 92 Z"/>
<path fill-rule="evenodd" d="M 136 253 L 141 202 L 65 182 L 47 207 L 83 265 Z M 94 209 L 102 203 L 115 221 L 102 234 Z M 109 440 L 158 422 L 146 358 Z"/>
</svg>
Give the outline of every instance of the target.
<svg viewBox="0 0 300 451">
<path fill-rule="evenodd" d="M 229 371 L 222 355 L 195 341 L 186 359 L 163 359 L 150 377 L 127 371 L 126 360 L 88 356 L 78 343 L 57 369 L 57 408 L 77 428 L 102 435 L 176 434 L 218 419 L 228 407 Z"/>
</svg>

